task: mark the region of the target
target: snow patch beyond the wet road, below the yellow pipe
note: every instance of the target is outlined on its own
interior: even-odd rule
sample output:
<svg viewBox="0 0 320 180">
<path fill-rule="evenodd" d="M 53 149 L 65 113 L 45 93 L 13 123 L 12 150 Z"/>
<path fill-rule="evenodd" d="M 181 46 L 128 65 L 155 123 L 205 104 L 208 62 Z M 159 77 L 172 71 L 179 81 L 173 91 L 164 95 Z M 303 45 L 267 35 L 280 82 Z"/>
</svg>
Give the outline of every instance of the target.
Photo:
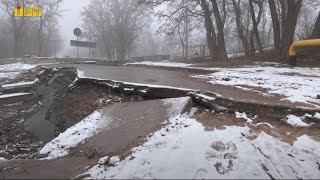
<svg viewBox="0 0 320 180">
<path fill-rule="evenodd" d="M 192 77 L 212 84 L 263 88 L 268 93 L 286 96 L 292 102 L 315 102 L 320 89 L 320 68 L 219 68 L 219 72 Z"/>
</svg>

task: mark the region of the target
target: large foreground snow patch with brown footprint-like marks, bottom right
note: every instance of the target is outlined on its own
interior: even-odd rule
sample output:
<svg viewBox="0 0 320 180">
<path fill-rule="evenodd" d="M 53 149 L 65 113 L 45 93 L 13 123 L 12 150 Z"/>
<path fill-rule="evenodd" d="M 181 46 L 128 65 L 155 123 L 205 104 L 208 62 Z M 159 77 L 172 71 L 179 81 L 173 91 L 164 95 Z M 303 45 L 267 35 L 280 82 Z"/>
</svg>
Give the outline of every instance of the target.
<svg viewBox="0 0 320 180">
<path fill-rule="evenodd" d="M 85 174 L 95 179 L 320 177 L 320 143 L 308 136 L 290 145 L 264 132 L 249 140 L 247 126 L 205 131 L 187 114 L 169 121 L 124 160 L 95 165 Z"/>
</svg>

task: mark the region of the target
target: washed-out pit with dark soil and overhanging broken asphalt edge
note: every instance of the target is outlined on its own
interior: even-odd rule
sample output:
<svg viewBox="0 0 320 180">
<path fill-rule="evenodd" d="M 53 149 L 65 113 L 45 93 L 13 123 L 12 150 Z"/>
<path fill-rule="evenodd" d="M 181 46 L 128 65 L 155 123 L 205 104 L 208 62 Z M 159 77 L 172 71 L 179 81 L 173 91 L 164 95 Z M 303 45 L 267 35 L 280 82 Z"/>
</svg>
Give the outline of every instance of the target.
<svg viewBox="0 0 320 180">
<path fill-rule="evenodd" d="M 38 150 L 45 143 L 96 109 L 115 103 L 190 96 L 194 106 L 217 115 L 234 115 L 240 111 L 280 120 L 289 113 L 301 116 L 316 112 L 296 107 L 239 102 L 192 89 L 80 78 L 75 68 L 37 67 L 24 76 L 39 79 L 33 87 L 24 89 L 34 92 L 35 96 L 28 101 L 0 105 L 0 113 L 3 114 L 0 117 L 0 157 L 6 159 L 39 157 Z"/>
</svg>

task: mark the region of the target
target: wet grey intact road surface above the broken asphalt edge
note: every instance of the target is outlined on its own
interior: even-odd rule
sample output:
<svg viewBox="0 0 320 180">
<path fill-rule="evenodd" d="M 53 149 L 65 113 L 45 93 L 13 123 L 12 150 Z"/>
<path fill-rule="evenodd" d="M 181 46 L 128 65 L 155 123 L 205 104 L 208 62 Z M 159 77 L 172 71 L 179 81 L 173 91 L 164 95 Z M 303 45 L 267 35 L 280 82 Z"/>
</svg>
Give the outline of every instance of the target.
<svg viewBox="0 0 320 180">
<path fill-rule="evenodd" d="M 280 101 L 283 96 L 264 96 L 261 93 L 245 91 L 239 88 L 213 85 L 203 80 L 190 78 L 191 73 L 185 71 L 173 71 L 157 68 L 134 67 L 134 66 L 99 66 L 90 64 L 60 64 L 51 67 L 76 67 L 85 72 L 85 76 L 111 79 L 125 82 L 173 86 L 195 90 L 211 91 L 236 101 L 254 102 L 270 105 L 312 107 L 310 104 L 291 103 Z"/>
</svg>

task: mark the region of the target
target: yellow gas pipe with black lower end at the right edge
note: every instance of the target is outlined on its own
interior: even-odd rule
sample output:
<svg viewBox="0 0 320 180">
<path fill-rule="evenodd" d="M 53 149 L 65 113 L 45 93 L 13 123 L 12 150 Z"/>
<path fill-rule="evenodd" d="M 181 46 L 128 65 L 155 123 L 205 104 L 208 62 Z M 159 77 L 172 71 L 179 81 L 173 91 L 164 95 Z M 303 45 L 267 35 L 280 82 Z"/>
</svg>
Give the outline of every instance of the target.
<svg viewBox="0 0 320 180">
<path fill-rule="evenodd" d="M 291 44 L 289 49 L 289 64 L 296 65 L 297 64 L 297 48 L 300 47 L 315 47 L 320 46 L 320 39 L 309 39 L 296 41 Z"/>
</svg>

